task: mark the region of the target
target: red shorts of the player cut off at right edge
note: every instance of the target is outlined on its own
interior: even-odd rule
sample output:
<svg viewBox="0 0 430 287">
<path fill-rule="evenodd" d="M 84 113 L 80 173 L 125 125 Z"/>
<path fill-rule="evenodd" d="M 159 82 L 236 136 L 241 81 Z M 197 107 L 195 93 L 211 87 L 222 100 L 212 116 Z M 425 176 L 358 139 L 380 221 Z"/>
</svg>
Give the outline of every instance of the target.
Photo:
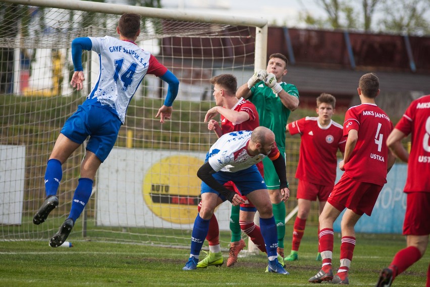
<svg viewBox="0 0 430 287">
<path fill-rule="evenodd" d="M 404 235 L 430 234 L 430 193 L 407 193 Z"/>
</svg>

